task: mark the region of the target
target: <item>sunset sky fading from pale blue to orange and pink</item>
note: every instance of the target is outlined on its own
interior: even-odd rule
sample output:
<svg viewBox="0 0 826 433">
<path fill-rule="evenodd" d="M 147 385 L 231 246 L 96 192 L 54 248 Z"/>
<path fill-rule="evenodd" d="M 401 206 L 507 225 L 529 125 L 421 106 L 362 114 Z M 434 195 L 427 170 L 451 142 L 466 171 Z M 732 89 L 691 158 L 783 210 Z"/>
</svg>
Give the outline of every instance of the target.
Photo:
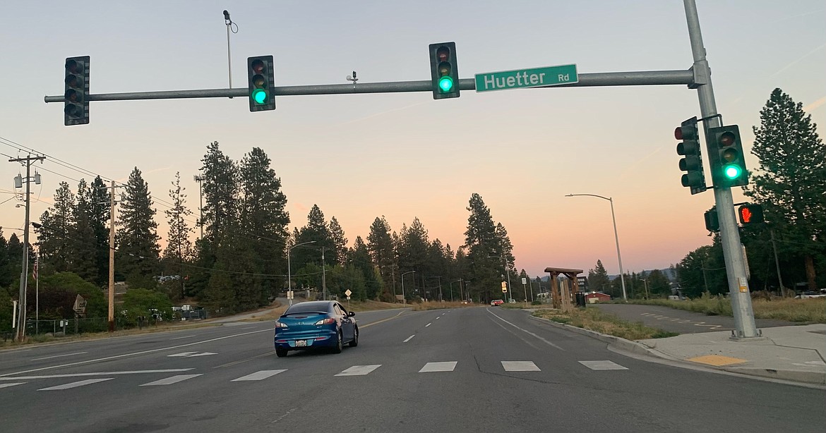
<svg viewBox="0 0 826 433">
<path fill-rule="evenodd" d="M 826 121 L 826 5 L 822 1 L 697 0 L 714 92 L 724 123 L 747 148 L 771 91 Z M 47 209 L 59 181 L 73 191 L 96 173 L 126 181 L 139 167 L 150 191 L 169 201 L 181 172 L 192 181 L 207 144 L 233 159 L 260 147 L 287 195 L 292 227 L 317 204 L 352 244 L 385 215 L 396 231 L 418 217 L 430 240 L 463 244 L 468 200 L 482 195 L 504 224 L 516 267 L 587 269 L 600 259 L 619 272 L 614 200 L 625 271 L 664 268 L 711 242 L 707 191 L 680 185 L 673 130 L 700 115 L 685 86 L 572 87 L 462 92 L 278 96 L 277 110 L 249 112 L 245 97 L 93 101 L 91 123 L 63 125 L 64 59 L 91 56 L 91 92 L 247 86 L 246 58 L 272 54 L 278 86 L 429 80 L 428 45 L 455 41 L 461 78 L 518 68 L 577 64 L 579 73 L 691 67 L 678 0 L 582 2 L 176 1 L 7 2 L 0 27 L 0 227 L 21 235 L 24 209 L 12 178 L 25 170 L 14 142 L 49 155 L 32 184 L 31 218 Z M 823 137 L 823 129 L 819 129 Z M 12 144 L 12 145 L 9 145 Z M 81 173 L 55 159 L 82 168 Z M 749 168 L 757 158 L 749 154 Z M 708 177 L 708 175 L 707 175 Z M 12 200 L 9 200 L 12 199 Z M 741 191 L 734 200 L 742 201 Z M 166 237 L 157 203 L 159 234 Z M 194 217 L 192 218 L 194 221 Z M 163 242 L 163 241 L 162 241 Z"/>
</svg>

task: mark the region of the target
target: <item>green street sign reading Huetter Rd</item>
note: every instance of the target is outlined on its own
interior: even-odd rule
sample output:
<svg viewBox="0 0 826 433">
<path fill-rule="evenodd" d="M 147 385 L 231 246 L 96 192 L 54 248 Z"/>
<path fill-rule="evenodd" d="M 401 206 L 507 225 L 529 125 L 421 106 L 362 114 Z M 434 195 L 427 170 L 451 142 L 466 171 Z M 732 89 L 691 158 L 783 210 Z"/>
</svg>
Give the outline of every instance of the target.
<svg viewBox="0 0 826 433">
<path fill-rule="evenodd" d="M 476 91 L 519 89 L 525 87 L 559 86 L 579 82 L 576 64 L 545 68 L 515 69 L 497 73 L 477 73 Z"/>
</svg>

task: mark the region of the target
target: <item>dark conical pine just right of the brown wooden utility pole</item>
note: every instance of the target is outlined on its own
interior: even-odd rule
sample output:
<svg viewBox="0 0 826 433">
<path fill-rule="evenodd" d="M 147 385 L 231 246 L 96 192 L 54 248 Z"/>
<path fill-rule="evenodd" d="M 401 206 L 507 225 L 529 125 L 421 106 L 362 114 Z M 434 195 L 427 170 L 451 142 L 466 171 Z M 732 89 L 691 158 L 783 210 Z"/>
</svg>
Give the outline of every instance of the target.
<svg viewBox="0 0 826 433">
<path fill-rule="evenodd" d="M 132 287 L 152 288 L 159 268 L 158 223 L 154 220 L 149 186 L 138 167 L 129 175 L 123 197 L 115 265 Z"/>
</svg>

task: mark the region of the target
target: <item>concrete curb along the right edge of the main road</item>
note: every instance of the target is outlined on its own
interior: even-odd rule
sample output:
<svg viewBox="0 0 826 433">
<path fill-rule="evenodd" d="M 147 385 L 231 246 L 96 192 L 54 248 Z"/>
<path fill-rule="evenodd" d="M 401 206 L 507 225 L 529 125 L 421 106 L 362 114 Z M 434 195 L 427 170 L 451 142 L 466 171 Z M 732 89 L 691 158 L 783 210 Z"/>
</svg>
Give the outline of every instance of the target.
<svg viewBox="0 0 826 433">
<path fill-rule="evenodd" d="M 826 385 L 826 373 L 819 373 L 816 371 L 799 371 L 799 370 L 787 370 L 787 369 L 759 369 L 753 367 L 718 367 L 714 365 L 706 365 L 696 362 L 691 362 L 689 360 L 682 360 L 680 358 L 675 358 L 674 356 L 667 355 L 662 351 L 657 351 L 649 346 L 644 345 L 643 343 L 639 343 L 637 341 L 630 341 L 626 340 L 622 337 L 615 337 L 610 336 L 607 334 L 603 334 L 601 332 L 591 331 L 590 329 L 585 329 L 582 327 L 575 327 L 573 325 L 567 325 L 565 323 L 553 322 L 553 320 L 549 320 L 547 318 L 538 318 L 536 316 L 531 315 L 530 318 L 534 318 L 536 320 L 549 323 L 553 327 L 559 327 L 562 329 L 566 329 L 571 332 L 576 332 L 577 334 L 582 334 L 591 338 L 595 338 L 596 340 L 605 341 L 610 346 L 614 346 L 615 348 L 622 350 L 622 351 L 629 351 L 631 353 L 635 353 L 637 355 L 650 355 L 656 356 L 657 358 L 662 358 L 664 360 L 671 360 L 675 361 L 680 364 L 684 365 L 691 365 L 692 367 L 703 367 L 707 369 L 717 369 L 720 371 L 727 371 L 729 373 L 736 373 L 736 374 L 746 374 L 749 376 L 757 376 L 761 378 L 769 378 L 769 379 L 781 379 L 781 380 L 788 380 L 790 382 L 800 382 L 803 384 L 817 384 L 817 385 Z"/>
</svg>

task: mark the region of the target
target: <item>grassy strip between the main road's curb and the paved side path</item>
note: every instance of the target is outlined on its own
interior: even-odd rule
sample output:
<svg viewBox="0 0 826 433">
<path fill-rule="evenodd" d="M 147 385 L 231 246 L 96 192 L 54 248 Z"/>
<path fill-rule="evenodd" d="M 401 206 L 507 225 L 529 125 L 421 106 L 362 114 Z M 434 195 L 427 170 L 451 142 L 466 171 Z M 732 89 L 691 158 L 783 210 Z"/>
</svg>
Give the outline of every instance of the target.
<svg viewBox="0 0 826 433">
<path fill-rule="evenodd" d="M 648 327 L 643 322 L 627 322 L 614 314 L 605 313 L 599 308 L 575 308 L 570 313 L 563 313 L 555 309 L 539 309 L 534 316 L 547 318 L 553 322 L 564 323 L 575 327 L 582 327 L 591 331 L 601 332 L 626 340 L 647 340 L 649 338 L 665 338 L 680 335 L 677 332 L 663 331 L 656 327 Z"/>
</svg>

